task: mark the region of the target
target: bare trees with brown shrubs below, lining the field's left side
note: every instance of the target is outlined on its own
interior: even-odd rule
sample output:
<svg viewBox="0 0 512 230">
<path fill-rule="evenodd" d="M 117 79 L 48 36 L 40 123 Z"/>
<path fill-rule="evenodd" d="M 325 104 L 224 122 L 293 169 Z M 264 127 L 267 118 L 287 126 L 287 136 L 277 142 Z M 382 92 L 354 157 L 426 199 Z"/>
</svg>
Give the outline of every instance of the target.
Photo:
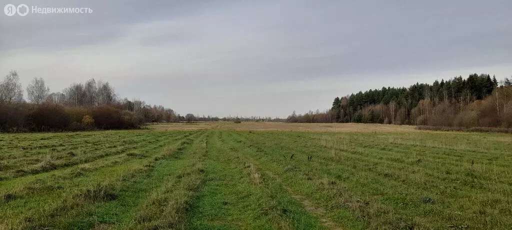
<svg viewBox="0 0 512 230">
<path fill-rule="evenodd" d="M 28 86 L 11 71 L 0 82 L 0 131 L 62 131 L 138 128 L 146 122 L 179 122 L 183 116 L 161 105 L 119 99 L 109 82 L 94 78 L 50 92 L 42 78 Z"/>
</svg>

